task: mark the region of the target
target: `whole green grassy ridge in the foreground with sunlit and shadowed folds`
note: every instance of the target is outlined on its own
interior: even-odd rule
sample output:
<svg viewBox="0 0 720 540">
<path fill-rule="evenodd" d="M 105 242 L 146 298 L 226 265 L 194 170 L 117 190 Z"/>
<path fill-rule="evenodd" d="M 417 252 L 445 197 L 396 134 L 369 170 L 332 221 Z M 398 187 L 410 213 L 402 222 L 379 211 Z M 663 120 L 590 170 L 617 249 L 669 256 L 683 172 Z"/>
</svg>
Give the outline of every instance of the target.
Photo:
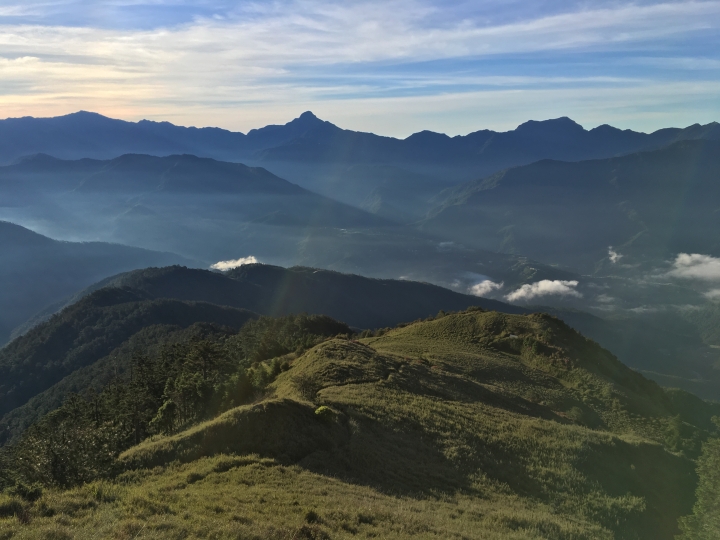
<svg viewBox="0 0 720 540">
<path fill-rule="evenodd" d="M 654 540 L 692 506 L 692 462 L 657 442 L 674 414 L 667 395 L 546 315 L 471 311 L 330 340 L 272 389 L 130 449 L 117 479 L 48 492 L 29 525 L 0 528 Z"/>
</svg>

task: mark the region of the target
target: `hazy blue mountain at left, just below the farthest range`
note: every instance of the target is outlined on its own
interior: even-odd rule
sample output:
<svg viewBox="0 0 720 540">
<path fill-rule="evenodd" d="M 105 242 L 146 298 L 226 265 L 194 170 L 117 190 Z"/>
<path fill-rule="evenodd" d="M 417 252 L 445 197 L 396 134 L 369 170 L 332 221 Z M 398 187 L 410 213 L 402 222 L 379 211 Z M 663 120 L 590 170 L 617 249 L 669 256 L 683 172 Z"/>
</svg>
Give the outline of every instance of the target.
<svg viewBox="0 0 720 540">
<path fill-rule="evenodd" d="M 0 195 L 8 220 L 208 264 L 237 252 L 291 254 L 305 230 L 395 225 L 265 169 L 190 155 L 67 161 L 37 154 L 0 167 Z"/>
</svg>

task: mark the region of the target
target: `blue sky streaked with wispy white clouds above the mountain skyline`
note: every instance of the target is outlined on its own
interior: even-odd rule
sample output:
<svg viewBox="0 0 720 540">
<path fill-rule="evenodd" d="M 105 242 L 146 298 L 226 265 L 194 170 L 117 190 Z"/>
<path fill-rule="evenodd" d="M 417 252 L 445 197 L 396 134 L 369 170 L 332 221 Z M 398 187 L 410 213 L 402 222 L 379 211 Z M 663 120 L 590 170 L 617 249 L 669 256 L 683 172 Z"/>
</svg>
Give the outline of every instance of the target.
<svg viewBox="0 0 720 540">
<path fill-rule="evenodd" d="M 0 117 L 405 137 L 720 120 L 720 0 L 0 0 Z"/>
</svg>

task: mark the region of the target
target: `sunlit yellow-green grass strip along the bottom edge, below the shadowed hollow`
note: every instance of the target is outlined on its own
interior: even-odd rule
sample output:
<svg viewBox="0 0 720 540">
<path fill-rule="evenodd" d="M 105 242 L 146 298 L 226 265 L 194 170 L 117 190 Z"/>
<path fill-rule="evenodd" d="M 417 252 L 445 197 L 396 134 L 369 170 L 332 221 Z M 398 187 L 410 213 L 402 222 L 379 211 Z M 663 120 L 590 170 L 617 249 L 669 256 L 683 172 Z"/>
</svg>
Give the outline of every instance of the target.
<svg viewBox="0 0 720 540">
<path fill-rule="evenodd" d="M 134 472 L 40 503 L 55 515 L 25 526 L 10 520 L 4 530 L 12 538 L 78 539 L 309 538 L 298 536 L 303 528 L 318 538 L 320 531 L 331 538 L 610 538 L 520 497 L 389 495 L 259 456 Z M 316 523 L 307 523 L 310 512 Z"/>
</svg>

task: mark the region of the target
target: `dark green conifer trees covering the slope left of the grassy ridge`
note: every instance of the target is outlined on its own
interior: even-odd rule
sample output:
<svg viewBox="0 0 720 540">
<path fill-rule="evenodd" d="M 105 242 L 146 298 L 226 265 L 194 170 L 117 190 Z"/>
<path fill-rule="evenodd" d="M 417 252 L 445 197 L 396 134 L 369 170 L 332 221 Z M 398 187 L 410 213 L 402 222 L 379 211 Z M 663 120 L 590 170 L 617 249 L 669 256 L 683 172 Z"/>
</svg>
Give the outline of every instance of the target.
<svg viewBox="0 0 720 540">
<path fill-rule="evenodd" d="M 0 488 L 68 487 L 112 474 L 123 450 L 252 401 L 290 368 L 289 353 L 350 333 L 325 316 L 261 317 L 235 334 L 208 332 L 156 354 L 136 352 L 127 376 L 71 396 L 5 447 Z"/>
</svg>

